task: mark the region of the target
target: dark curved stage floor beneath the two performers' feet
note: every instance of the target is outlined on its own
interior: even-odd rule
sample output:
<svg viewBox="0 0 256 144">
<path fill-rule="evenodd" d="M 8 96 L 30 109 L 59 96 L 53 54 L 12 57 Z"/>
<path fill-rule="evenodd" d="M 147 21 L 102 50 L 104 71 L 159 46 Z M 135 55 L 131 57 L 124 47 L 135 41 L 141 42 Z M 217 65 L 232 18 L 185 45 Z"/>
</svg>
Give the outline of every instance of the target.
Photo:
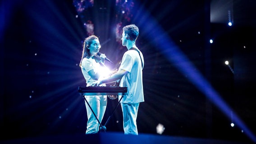
<svg viewBox="0 0 256 144">
<path fill-rule="evenodd" d="M 172 137 L 167 135 L 124 135 L 117 132 L 101 132 L 85 135 L 57 135 L 12 139 L 0 141 L 1 144 L 247 144 L 218 139 L 198 139 L 188 137 Z"/>
</svg>

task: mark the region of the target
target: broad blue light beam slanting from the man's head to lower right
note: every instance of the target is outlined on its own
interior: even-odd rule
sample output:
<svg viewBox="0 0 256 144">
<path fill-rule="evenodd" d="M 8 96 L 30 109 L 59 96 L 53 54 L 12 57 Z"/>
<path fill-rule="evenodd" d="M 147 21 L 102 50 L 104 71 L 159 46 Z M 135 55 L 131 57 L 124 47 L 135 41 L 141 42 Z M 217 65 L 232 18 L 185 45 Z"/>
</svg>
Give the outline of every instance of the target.
<svg viewBox="0 0 256 144">
<path fill-rule="evenodd" d="M 140 20 L 137 25 L 144 28 L 144 32 L 147 33 L 147 36 L 151 39 L 151 44 L 160 49 L 165 57 L 171 63 L 174 63 L 174 66 L 177 67 L 183 75 L 186 75 L 194 85 L 196 85 L 198 90 L 205 94 L 212 103 L 214 103 L 227 117 L 229 117 L 230 112 L 233 112 L 232 108 L 225 103 L 224 99 L 221 98 L 218 92 L 216 92 L 204 76 L 202 76 L 201 72 L 197 70 L 178 46 L 172 42 L 168 33 L 161 28 L 157 21 L 152 18 L 145 9 L 141 7 L 138 13 L 143 15 L 139 18 Z M 145 23 L 147 24 L 145 25 Z M 234 112 L 233 121 L 237 123 L 238 127 L 240 127 L 252 141 L 256 142 L 256 136 Z"/>
</svg>

